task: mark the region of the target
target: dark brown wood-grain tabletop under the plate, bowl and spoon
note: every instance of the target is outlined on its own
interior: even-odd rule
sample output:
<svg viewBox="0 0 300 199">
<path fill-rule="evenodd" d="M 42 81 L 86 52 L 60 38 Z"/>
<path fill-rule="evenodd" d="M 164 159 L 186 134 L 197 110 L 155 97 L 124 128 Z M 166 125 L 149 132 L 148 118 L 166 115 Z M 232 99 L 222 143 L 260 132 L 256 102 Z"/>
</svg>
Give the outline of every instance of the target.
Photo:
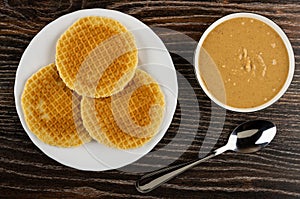
<svg viewBox="0 0 300 199">
<path fill-rule="evenodd" d="M 300 4 L 298 0 L 240 2 L 1 0 L 0 197 L 300 198 Z M 224 111 L 212 108 L 195 79 L 193 66 L 180 56 L 192 58 L 193 44 L 190 46 L 188 42 L 176 40 L 176 35 L 160 32 L 180 74 L 179 104 L 174 119 L 154 149 L 160 153 L 149 154 L 129 167 L 105 172 L 63 166 L 43 154 L 23 130 L 14 103 L 15 73 L 25 48 L 46 24 L 86 8 L 119 10 L 149 26 L 176 30 L 195 41 L 224 15 L 235 12 L 264 15 L 282 27 L 293 46 L 296 70 L 292 84 L 278 102 L 265 110 L 227 111 L 223 125 Z M 196 101 L 189 96 L 184 80 L 192 86 Z M 196 105 L 199 110 L 195 109 Z M 144 171 L 159 168 L 166 160 L 177 164 L 196 158 L 210 124 L 214 124 L 213 130 L 222 131 L 219 138 L 212 135 L 208 142 L 212 145 L 217 142 L 214 146 L 217 148 L 226 142 L 236 125 L 250 119 L 268 119 L 278 126 L 274 141 L 264 150 L 246 155 L 229 152 L 181 174 L 153 192 L 141 194 L 135 190 L 135 180 L 143 172 L 136 173 L 132 168 Z"/>
</svg>

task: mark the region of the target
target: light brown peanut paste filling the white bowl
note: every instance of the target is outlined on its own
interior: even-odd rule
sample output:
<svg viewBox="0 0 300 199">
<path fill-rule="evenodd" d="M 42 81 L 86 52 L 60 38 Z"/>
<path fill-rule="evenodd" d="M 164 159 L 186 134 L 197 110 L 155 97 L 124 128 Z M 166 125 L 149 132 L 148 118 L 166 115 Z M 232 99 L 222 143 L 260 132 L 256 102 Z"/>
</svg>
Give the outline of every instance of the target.
<svg viewBox="0 0 300 199">
<path fill-rule="evenodd" d="M 289 72 L 288 52 L 279 34 L 264 22 L 233 18 L 205 38 L 199 70 L 207 89 L 220 102 L 236 108 L 257 107 L 283 87 Z"/>
</svg>

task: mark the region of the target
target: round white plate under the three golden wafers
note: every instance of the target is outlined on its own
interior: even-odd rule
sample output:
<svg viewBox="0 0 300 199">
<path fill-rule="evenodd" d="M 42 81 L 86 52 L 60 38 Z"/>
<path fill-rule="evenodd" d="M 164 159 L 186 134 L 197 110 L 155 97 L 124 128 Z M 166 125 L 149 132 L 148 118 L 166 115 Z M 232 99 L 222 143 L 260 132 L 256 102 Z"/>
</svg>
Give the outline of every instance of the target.
<svg viewBox="0 0 300 199">
<path fill-rule="evenodd" d="M 120 21 L 132 31 L 139 49 L 138 67 L 151 74 L 165 94 L 166 113 L 158 134 L 146 145 L 134 150 L 117 150 L 95 141 L 80 147 L 60 148 L 41 142 L 27 127 L 21 107 L 21 95 L 27 79 L 38 69 L 53 63 L 59 36 L 84 16 L 106 16 Z M 64 15 L 45 26 L 26 48 L 15 81 L 15 103 L 23 128 L 32 142 L 46 155 L 61 164 L 90 171 L 116 169 L 128 165 L 148 152 L 161 140 L 171 124 L 177 103 L 178 86 L 172 59 L 159 37 L 138 19 L 124 13 L 105 9 L 80 10 Z"/>
</svg>

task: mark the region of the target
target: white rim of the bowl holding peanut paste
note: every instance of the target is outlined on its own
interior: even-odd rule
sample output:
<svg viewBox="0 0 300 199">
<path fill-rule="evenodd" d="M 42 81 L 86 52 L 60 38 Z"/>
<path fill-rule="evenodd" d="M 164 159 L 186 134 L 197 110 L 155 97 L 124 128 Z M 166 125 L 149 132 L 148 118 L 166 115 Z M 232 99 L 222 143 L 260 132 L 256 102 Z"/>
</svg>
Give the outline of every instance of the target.
<svg viewBox="0 0 300 199">
<path fill-rule="evenodd" d="M 230 19 L 234 19 L 234 18 L 253 18 L 253 19 L 257 19 L 265 24 L 267 24 L 268 26 L 270 26 L 274 31 L 277 32 L 277 34 L 280 36 L 280 38 L 282 39 L 287 53 L 288 53 L 288 58 L 289 58 L 289 71 L 288 71 L 288 76 L 285 80 L 285 83 L 283 85 L 283 87 L 280 89 L 280 91 L 271 99 L 268 100 L 266 103 L 261 104 L 259 106 L 256 107 L 251 107 L 251 108 L 237 108 L 237 107 L 232 107 L 229 106 L 227 104 L 222 103 L 221 101 L 219 101 L 218 99 L 216 99 L 206 88 L 205 83 L 203 82 L 201 76 L 200 76 L 200 71 L 199 71 L 199 65 L 198 65 L 198 57 L 199 57 L 199 53 L 200 53 L 200 48 L 204 42 L 204 40 L 206 39 L 207 35 L 218 25 L 220 25 L 221 23 L 230 20 Z M 235 112 L 254 112 L 254 111 L 259 111 L 262 109 L 265 109 L 269 106 L 271 106 L 272 104 L 274 104 L 277 100 L 279 100 L 279 98 L 281 98 L 283 96 L 283 94 L 287 91 L 288 87 L 290 86 L 292 79 L 293 79 L 293 75 L 294 75 L 294 70 L 295 70 L 295 57 L 294 57 L 294 52 L 293 52 L 293 48 L 292 45 L 288 39 L 288 37 L 286 36 L 286 34 L 284 33 L 284 31 L 275 23 L 273 22 L 271 19 L 264 17 L 262 15 L 259 14 L 255 14 L 255 13 L 249 13 L 249 12 L 240 12 L 240 13 L 233 13 L 233 14 L 229 14 L 226 15 L 224 17 L 221 17 L 220 19 L 216 20 L 215 22 L 213 22 L 206 30 L 205 32 L 202 34 L 198 45 L 195 49 L 194 52 L 194 71 L 195 71 L 195 75 L 196 78 L 202 88 L 202 90 L 205 92 L 205 94 L 213 101 L 215 102 L 217 105 L 230 110 L 230 111 L 235 111 Z"/>
</svg>

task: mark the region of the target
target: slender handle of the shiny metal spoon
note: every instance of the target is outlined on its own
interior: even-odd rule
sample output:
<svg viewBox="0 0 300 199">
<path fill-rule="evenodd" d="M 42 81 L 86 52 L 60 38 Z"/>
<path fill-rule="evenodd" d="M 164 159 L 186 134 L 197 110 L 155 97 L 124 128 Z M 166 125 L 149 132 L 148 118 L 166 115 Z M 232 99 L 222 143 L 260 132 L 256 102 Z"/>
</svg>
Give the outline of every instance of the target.
<svg viewBox="0 0 300 199">
<path fill-rule="evenodd" d="M 135 187 L 141 193 L 147 193 L 153 189 L 159 187 L 161 184 L 169 181 L 173 177 L 179 175 L 180 173 L 198 165 L 201 162 L 204 162 L 216 155 L 219 155 L 217 151 L 214 151 L 207 155 L 203 159 L 192 160 L 183 164 L 174 165 L 171 167 L 165 167 L 153 172 L 150 172 L 142 176 L 139 180 L 136 181 Z"/>
</svg>

